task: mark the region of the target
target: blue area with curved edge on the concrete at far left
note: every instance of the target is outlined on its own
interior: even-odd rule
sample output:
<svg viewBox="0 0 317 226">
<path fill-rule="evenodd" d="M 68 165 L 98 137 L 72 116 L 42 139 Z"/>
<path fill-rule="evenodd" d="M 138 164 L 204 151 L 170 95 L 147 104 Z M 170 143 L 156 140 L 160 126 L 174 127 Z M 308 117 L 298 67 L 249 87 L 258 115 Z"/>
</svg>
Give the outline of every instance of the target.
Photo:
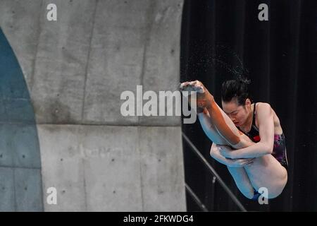
<svg viewBox="0 0 317 226">
<path fill-rule="evenodd" d="M 0 137 L 0 210 L 42 211 L 35 114 L 23 72 L 1 28 Z"/>
</svg>

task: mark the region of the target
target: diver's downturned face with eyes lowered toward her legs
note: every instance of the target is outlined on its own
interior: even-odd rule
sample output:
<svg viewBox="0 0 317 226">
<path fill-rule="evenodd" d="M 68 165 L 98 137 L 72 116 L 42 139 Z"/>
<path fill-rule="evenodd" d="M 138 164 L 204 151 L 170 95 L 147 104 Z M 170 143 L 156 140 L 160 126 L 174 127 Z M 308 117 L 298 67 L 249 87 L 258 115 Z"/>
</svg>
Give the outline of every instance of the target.
<svg viewBox="0 0 317 226">
<path fill-rule="evenodd" d="M 223 111 L 230 117 L 235 126 L 242 126 L 246 123 L 251 112 L 251 102 L 246 100 L 245 105 L 237 105 L 237 99 L 232 98 L 230 102 L 222 102 Z"/>
</svg>

